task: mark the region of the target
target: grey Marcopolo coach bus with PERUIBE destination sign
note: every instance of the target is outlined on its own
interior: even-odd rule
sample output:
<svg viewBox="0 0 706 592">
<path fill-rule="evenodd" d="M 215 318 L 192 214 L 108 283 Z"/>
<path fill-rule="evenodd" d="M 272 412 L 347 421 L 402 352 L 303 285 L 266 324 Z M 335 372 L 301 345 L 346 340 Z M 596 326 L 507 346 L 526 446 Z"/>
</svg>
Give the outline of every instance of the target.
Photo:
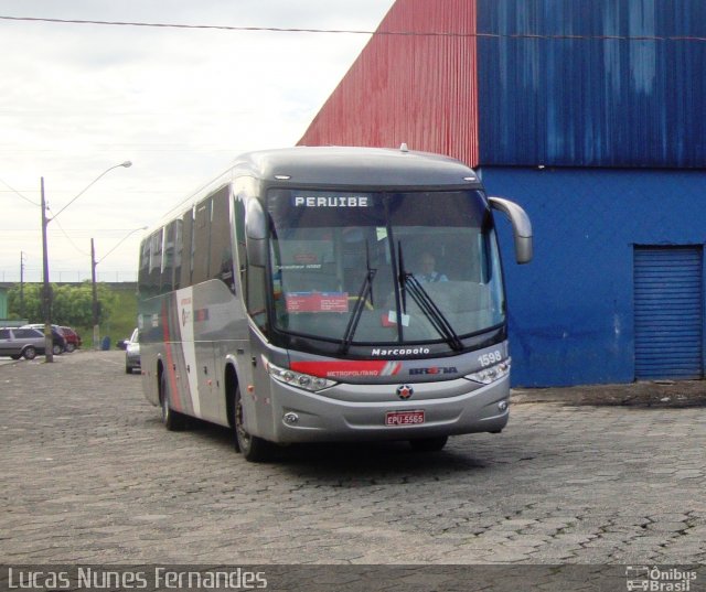
<svg viewBox="0 0 706 592">
<path fill-rule="evenodd" d="M 493 211 L 518 263 L 532 226 L 472 169 L 404 144 L 266 150 L 182 204 L 139 259 L 142 387 L 168 430 L 191 417 L 228 427 L 263 462 L 278 444 L 436 451 L 505 427 Z"/>
</svg>

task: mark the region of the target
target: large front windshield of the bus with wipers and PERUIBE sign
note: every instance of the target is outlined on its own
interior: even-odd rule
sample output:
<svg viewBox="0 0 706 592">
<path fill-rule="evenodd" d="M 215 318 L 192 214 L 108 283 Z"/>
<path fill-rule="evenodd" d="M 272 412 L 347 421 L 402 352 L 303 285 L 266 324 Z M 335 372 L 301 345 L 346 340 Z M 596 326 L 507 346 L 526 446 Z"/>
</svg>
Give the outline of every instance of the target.
<svg viewBox="0 0 706 592">
<path fill-rule="evenodd" d="M 505 320 L 478 191 L 270 190 L 275 330 L 350 344 L 446 342 Z"/>
</svg>

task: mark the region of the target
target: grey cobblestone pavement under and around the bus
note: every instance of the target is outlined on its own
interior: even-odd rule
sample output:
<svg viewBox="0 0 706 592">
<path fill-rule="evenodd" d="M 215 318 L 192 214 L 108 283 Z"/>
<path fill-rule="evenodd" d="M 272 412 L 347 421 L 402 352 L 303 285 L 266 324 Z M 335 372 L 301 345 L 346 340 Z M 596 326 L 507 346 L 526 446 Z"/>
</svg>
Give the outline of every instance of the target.
<svg viewBox="0 0 706 592">
<path fill-rule="evenodd" d="M 167 432 L 121 352 L 0 366 L 4 563 L 704 563 L 704 409 L 513 406 L 499 435 Z"/>
</svg>

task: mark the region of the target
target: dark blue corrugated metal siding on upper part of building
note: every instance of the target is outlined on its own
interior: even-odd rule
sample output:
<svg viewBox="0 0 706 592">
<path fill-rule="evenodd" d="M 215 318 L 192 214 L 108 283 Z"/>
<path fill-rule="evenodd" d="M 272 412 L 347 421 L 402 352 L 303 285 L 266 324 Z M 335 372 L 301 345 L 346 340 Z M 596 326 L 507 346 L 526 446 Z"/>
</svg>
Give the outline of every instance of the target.
<svg viewBox="0 0 706 592">
<path fill-rule="evenodd" d="M 706 165 L 703 0 L 478 0 L 483 165 Z M 538 35 L 523 39 L 513 35 Z M 544 37 L 544 39 L 543 39 Z"/>
</svg>

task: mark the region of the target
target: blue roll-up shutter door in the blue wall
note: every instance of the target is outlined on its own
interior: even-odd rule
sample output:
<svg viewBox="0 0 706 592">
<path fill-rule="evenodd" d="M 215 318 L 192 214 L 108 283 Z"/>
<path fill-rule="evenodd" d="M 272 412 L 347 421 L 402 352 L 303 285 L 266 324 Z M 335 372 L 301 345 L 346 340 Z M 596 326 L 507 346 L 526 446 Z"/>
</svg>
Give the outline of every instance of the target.
<svg viewBox="0 0 706 592">
<path fill-rule="evenodd" d="M 703 377 L 703 249 L 635 247 L 635 378 Z"/>
</svg>

